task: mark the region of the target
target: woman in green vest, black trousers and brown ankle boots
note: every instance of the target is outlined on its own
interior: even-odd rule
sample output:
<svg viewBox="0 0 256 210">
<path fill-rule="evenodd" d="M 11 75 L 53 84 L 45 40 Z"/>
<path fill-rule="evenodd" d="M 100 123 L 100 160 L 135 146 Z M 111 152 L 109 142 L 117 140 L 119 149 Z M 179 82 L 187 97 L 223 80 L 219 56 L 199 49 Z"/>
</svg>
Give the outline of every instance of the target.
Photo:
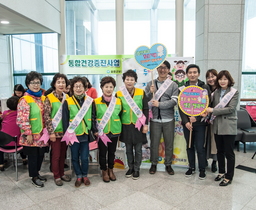
<svg viewBox="0 0 256 210">
<path fill-rule="evenodd" d="M 107 138 L 109 138 L 111 142 L 106 142 L 105 144 L 101 137 L 99 137 L 99 162 L 100 169 L 102 170 L 102 179 L 104 182 L 109 182 L 110 180 L 116 180 L 116 176 L 113 173 L 113 167 L 116 145 L 122 128 L 119 116 L 121 112 L 121 100 L 119 98 L 115 98 L 115 96 L 112 95 L 116 87 L 116 81 L 113 77 L 102 78 L 100 82 L 100 87 L 102 89 L 103 95 L 94 100 L 96 107 L 96 119 L 99 125 L 102 122 L 104 114 L 106 113 L 107 116 L 105 116 L 105 119 L 108 119 L 108 121 L 103 129 L 103 133 L 107 136 Z M 108 108 L 110 104 L 114 107 L 111 115 L 110 113 L 108 114 Z M 96 133 L 95 135 L 98 136 L 98 133 Z"/>
</svg>

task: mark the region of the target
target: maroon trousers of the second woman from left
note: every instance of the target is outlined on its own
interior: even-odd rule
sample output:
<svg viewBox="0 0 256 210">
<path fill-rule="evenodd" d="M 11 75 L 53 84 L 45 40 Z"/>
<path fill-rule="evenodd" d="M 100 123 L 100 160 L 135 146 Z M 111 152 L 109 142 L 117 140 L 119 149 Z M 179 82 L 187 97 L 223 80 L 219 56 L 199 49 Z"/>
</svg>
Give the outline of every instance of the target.
<svg viewBox="0 0 256 210">
<path fill-rule="evenodd" d="M 56 138 L 55 142 L 50 142 L 51 145 L 51 169 L 54 179 L 58 179 L 64 175 L 64 163 L 67 145 L 66 142 L 61 142 L 61 138 Z"/>
</svg>

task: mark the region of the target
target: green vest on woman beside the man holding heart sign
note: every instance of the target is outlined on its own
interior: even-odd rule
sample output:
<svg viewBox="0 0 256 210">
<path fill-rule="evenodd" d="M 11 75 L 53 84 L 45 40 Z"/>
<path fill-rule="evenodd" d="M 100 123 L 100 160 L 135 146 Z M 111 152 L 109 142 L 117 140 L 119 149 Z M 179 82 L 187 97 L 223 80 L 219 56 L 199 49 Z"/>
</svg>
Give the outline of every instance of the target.
<svg viewBox="0 0 256 210">
<path fill-rule="evenodd" d="M 122 124 L 129 125 L 131 123 L 136 124 L 137 116 L 134 114 L 128 103 L 126 102 L 122 92 L 119 90 L 117 93 L 117 97 L 121 99 L 123 113 L 121 116 Z M 135 88 L 133 100 L 138 105 L 138 107 L 142 110 L 143 108 L 143 96 L 144 90 Z"/>
</svg>

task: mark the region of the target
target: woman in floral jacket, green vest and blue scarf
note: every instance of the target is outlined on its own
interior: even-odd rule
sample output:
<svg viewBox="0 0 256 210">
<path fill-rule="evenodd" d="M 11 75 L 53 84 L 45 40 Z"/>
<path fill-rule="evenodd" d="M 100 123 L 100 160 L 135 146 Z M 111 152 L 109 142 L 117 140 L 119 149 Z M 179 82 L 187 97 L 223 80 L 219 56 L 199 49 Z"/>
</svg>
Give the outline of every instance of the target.
<svg viewBox="0 0 256 210">
<path fill-rule="evenodd" d="M 43 101 L 41 85 L 43 77 L 35 71 L 27 74 L 25 84 L 28 90 L 18 104 L 17 125 L 21 129 L 20 145 L 23 152 L 28 155 L 28 171 L 32 177 L 32 184 L 36 187 L 44 187 L 47 179 L 39 174 L 44 158 L 44 153 L 49 151 L 48 145 L 39 141 L 42 136 Z"/>
</svg>

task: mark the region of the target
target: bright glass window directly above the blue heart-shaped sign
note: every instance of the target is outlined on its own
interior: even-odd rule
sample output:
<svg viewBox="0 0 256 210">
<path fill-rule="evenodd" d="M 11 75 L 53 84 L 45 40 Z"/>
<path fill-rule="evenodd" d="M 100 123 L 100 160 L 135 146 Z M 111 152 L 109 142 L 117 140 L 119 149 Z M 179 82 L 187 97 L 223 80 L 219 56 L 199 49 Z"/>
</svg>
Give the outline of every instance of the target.
<svg viewBox="0 0 256 210">
<path fill-rule="evenodd" d="M 127 0 L 124 8 L 124 53 L 162 43 L 175 52 L 175 0 Z"/>
</svg>

